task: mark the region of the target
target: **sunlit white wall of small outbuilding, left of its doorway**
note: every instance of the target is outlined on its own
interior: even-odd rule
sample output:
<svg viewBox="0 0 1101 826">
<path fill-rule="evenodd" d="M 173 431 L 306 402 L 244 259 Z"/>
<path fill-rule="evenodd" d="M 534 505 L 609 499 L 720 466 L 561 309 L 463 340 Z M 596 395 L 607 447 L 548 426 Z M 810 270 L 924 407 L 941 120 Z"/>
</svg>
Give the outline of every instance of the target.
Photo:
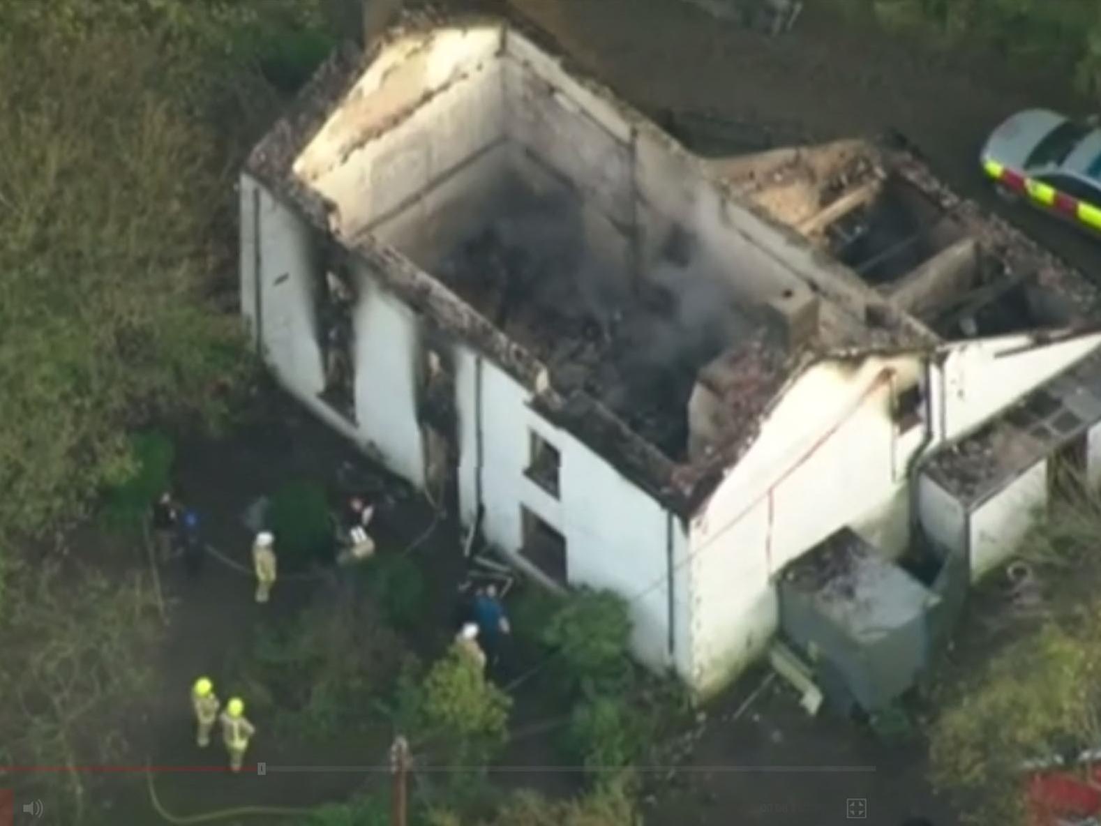
<svg viewBox="0 0 1101 826">
<path fill-rule="evenodd" d="M 1017 550 L 1047 507 L 1047 460 L 1038 461 L 971 511 L 971 579 L 977 580 Z"/>
</svg>

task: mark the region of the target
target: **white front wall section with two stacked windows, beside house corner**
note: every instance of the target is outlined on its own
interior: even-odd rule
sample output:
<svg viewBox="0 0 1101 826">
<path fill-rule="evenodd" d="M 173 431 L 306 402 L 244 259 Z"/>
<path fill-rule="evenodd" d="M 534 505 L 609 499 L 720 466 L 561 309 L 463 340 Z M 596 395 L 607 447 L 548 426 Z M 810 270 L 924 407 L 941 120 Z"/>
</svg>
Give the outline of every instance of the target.
<svg viewBox="0 0 1101 826">
<path fill-rule="evenodd" d="M 478 363 L 481 363 L 481 414 Z M 460 421 L 459 499 L 464 519 L 478 509 L 479 476 L 484 507 L 482 530 L 525 569 L 521 507 L 526 507 L 566 540 L 570 585 L 611 589 L 630 601 L 632 646 L 654 667 L 675 665 L 687 673 L 687 589 L 684 573 L 674 575 L 677 662 L 668 651 L 669 593 L 667 543 L 669 514 L 600 456 L 528 407 L 531 392 L 492 361 L 459 347 L 456 392 Z M 478 430 L 481 428 L 479 467 Z M 528 479 L 530 433 L 534 431 L 560 456 L 559 498 Z M 686 557 L 680 523 L 673 522 L 674 566 Z M 683 572 L 683 567 L 682 567 Z"/>
</svg>

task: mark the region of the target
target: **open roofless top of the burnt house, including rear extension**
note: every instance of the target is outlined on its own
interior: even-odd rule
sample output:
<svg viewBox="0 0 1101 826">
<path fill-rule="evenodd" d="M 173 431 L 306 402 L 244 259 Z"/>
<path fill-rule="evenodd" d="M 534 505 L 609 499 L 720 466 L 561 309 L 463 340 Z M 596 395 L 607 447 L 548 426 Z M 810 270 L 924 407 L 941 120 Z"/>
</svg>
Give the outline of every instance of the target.
<svg viewBox="0 0 1101 826">
<path fill-rule="evenodd" d="M 816 360 L 1097 303 L 905 149 L 707 162 L 550 51 L 406 21 L 333 55 L 247 172 L 682 515 Z"/>
</svg>

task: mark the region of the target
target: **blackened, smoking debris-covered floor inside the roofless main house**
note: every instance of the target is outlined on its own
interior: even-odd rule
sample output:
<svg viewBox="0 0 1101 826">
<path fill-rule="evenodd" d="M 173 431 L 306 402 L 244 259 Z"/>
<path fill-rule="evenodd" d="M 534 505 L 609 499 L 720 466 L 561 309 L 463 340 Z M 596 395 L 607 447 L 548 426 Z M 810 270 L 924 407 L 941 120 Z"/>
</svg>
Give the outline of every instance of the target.
<svg viewBox="0 0 1101 826">
<path fill-rule="evenodd" d="M 696 373 L 742 329 L 738 308 L 726 296 L 689 296 L 709 312 L 686 317 L 683 286 L 663 273 L 675 263 L 632 276 L 642 268 L 620 252 L 620 230 L 528 153 L 508 149 L 491 178 L 437 195 L 419 229 L 406 221 L 375 235 L 543 361 L 559 391 L 585 391 L 682 460 Z M 719 315 L 716 301 L 726 302 Z"/>
</svg>

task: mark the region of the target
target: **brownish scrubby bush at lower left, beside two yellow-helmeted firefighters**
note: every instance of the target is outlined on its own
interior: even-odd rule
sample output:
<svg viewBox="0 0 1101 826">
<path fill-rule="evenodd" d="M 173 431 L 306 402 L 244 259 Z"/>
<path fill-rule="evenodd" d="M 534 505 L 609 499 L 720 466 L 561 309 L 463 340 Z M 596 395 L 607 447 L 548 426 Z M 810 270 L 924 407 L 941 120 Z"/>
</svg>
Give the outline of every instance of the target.
<svg viewBox="0 0 1101 826">
<path fill-rule="evenodd" d="M 90 568 L 9 561 L 21 596 L 0 623 L 0 761 L 8 765 L 111 764 L 135 733 L 135 697 L 152 685 L 148 662 L 160 619 L 148 579 Z M 95 737 L 88 737 L 94 730 Z M 51 816 L 79 826 L 89 806 L 85 772 L 42 774 Z"/>
</svg>

